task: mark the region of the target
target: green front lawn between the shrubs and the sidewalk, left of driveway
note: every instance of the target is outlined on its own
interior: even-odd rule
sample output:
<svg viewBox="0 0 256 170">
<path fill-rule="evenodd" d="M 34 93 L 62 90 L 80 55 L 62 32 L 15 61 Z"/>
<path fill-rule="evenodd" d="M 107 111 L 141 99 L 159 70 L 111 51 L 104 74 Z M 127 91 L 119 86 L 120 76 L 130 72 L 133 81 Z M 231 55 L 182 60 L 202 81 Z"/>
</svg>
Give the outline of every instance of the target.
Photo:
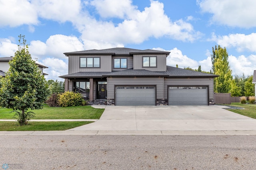
<svg viewBox="0 0 256 170">
<path fill-rule="evenodd" d="M 14 119 L 12 109 L 0 108 L 0 119 Z M 31 110 L 29 110 L 31 111 Z M 100 119 L 104 109 L 95 109 L 91 106 L 74 107 L 49 107 L 32 110 L 35 113 L 33 119 Z"/>
</svg>

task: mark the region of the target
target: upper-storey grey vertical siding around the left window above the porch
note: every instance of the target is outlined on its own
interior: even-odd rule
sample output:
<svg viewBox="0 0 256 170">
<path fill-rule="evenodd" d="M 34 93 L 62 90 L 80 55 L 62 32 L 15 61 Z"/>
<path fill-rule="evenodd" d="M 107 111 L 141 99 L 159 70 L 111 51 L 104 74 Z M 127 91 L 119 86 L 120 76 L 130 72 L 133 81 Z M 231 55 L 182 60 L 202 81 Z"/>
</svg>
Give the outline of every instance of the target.
<svg viewBox="0 0 256 170">
<path fill-rule="evenodd" d="M 80 68 L 80 57 L 100 57 L 100 68 Z M 78 72 L 110 72 L 111 55 L 69 55 L 68 74 Z"/>
</svg>

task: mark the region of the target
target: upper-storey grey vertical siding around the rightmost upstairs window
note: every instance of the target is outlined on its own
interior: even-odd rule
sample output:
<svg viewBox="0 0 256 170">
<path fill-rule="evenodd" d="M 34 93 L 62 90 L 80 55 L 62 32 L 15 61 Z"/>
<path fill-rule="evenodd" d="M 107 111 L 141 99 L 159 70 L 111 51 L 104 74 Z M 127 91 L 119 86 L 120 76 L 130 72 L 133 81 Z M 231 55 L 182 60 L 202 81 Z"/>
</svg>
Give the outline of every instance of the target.
<svg viewBox="0 0 256 170">
<path fill-rule="evenodd" d="M 156 67 L 142 67 L 142 57 L 156 56 Z M 144 69 L 149 71 L 166 71 L 166 55 L 165 54 L 134 54 L 133 69 Z"/>
</svg>

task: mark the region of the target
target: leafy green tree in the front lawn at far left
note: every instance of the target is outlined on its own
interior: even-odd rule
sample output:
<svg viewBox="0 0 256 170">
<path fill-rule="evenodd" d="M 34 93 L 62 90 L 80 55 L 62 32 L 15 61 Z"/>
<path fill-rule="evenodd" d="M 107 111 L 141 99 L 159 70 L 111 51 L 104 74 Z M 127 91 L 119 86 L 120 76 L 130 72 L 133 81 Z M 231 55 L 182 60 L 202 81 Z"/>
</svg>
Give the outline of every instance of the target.
<svg viewBox="0 0 256 170">
<path fill-rule="evenodd" d="M 28 112 L 28 109 L 42 109 L 42 103 L 49 95 L 48 85 L 35 61 L 31 59 L 24 37 L 19 36 L 18 51 L 9 62 L 10 69 L 6 77 L 1 79 L 0 89 L 0 107 L 13 109 L 20 125 L 26 125 L 34 117 L 34 113 Z"/>
</svg>

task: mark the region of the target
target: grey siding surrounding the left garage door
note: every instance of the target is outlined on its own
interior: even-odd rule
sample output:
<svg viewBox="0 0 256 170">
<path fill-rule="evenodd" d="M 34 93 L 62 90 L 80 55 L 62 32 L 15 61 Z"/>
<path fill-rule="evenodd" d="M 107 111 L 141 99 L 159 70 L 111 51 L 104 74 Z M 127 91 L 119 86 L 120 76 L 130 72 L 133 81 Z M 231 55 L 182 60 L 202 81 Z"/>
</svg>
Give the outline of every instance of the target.
<svg viewBox="0 0 256 170">
<path fill-rule="evenodd" d="M 163 77 L 108 77 L 108 99 L 114 99 L 115 85 L 156 85 L 156 99 L 164 97 Z"/>
</svg>

